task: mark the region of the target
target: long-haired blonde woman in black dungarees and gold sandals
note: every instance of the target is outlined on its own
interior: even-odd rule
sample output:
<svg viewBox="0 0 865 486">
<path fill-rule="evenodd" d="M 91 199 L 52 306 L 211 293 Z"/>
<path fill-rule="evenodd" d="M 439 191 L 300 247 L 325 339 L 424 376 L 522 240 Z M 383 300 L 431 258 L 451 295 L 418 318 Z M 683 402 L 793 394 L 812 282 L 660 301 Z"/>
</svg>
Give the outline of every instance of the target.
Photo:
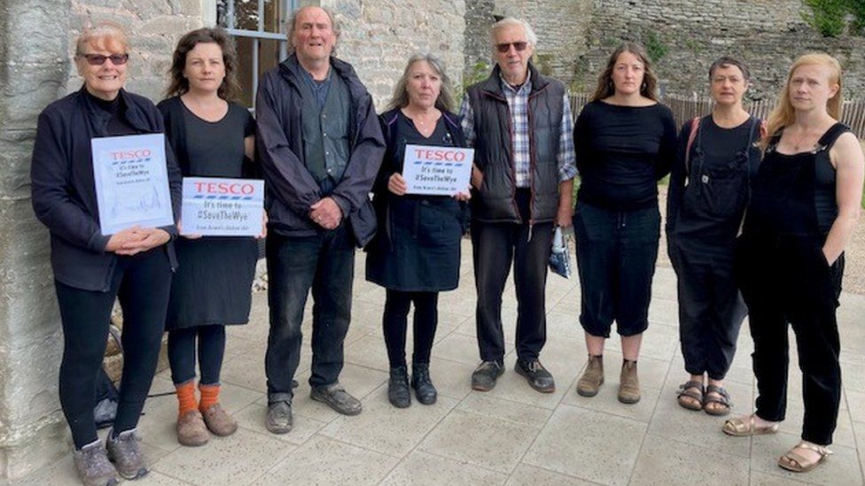
<svg viewBox="0 0 865 486">
<path fill-rule="evenodd" d="M 791 67 L 768 120 L 736 273 L 751 321 L 756 412 L 727 420 L 732 436 L 775 433 L 787 401 L 787 324 L 796 333 L 805 420 L 802 440 L 778 459 L 794 472 L 830 451 L 841 397 L 836 309 L 844 247 L 859 218 L 865 156 L 838 123 L 841 68 L 826 54 Z"/>
</svg>

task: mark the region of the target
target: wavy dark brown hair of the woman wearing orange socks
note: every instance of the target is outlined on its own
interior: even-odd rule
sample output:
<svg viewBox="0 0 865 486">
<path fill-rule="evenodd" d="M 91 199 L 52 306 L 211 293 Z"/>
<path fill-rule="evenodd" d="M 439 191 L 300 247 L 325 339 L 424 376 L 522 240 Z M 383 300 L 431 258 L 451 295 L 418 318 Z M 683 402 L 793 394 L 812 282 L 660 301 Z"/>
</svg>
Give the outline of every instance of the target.
<svg viewBox="0 0 865 486">
<path fill-rule="evenodd" d="M 213 42 L 222 49 L 222 63 L 225 65 L 225 78 L 216 91 L 216 95 L 222 99 L 234 99 L 240 91 L 238 83 L 238 52 L 234 48 L 234 41 L 221 27 L 202 27 L 193 30 L 177 41 L 177 48 L 171 60 L 171 68 L 168 74 L 171 81 L 166 89 L 166 96 L 179 96 L 189 91 L 189 80 L 183 76 L 186 67 L 186 55 L 195 49 L 199 42 Z"/>
</svg>

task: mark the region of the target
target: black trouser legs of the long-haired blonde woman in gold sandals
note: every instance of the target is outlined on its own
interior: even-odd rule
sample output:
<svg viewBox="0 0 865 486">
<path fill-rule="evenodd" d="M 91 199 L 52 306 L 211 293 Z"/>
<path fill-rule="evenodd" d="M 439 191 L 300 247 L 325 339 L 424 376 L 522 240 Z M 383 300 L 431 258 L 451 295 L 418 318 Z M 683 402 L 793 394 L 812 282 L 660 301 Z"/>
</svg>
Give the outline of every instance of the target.
<svg viewBox="0 0 865 486">
<path fill-rule="evenodd" d="M 802 439 L 831 444 L 841 399 L 838 296 L 844 256 L 831 266 L 820 246 L 796 238 L 740 241 L 736 256 L 748 305 L 757 410 L 780 421 L 787 406 L 788 324 L 796 334 L 805 420 Z"/>
</svg>

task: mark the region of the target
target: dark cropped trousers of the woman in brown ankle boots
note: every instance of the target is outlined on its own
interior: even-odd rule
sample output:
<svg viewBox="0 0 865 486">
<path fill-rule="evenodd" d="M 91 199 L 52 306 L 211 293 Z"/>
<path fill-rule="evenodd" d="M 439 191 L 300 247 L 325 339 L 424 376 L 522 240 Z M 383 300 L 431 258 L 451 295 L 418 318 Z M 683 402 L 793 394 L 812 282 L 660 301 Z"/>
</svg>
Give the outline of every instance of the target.
<svg viewBox="0 0 865 486">
<path fill-rule="evenodd" d="M 649 327 L 651 279 L 658 260 L 658 207 L 626 212 L 577 203 L 573 215 L 580 271 L 580 323 L 591 336 L 621 336 Z"/>
</svg>

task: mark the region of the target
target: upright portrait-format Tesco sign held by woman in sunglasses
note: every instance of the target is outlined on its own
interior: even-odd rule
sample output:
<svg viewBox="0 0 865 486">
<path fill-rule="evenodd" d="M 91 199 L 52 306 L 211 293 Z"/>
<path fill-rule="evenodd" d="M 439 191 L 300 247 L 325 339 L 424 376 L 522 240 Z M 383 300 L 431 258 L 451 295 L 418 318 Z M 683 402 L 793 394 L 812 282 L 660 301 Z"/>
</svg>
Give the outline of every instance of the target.
<svg viewBox="0 0 865 486">
<path fill-rule="evenodd" d="M 94 138 L 90 148 L 103 235 L 136 225 L 156 228 L 175 224 L 165 166 L 165 135 Z"/>
</svg>

